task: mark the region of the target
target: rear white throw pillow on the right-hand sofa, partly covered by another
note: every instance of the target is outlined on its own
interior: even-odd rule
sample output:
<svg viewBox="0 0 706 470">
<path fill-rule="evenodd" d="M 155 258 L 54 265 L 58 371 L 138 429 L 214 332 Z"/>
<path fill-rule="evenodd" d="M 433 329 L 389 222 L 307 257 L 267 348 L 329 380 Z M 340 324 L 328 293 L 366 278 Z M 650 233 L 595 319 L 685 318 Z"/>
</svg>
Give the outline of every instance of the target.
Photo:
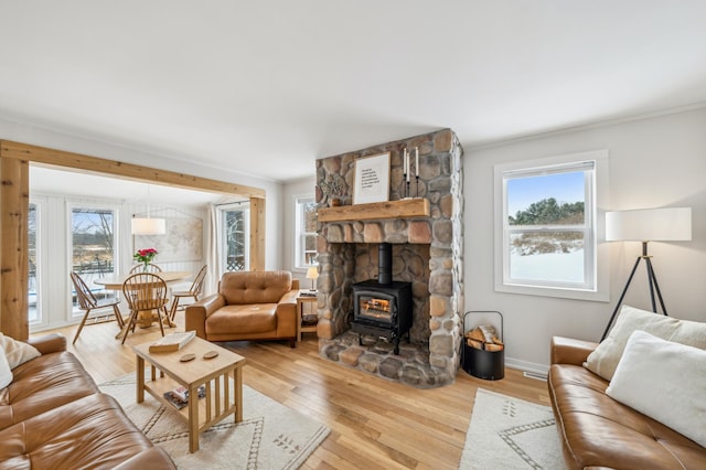
<svg viewBox="0 0 706 470">
<path fill-rule="evenodd" d="M 610 381 L 616 372 L 628 339 L 635 330 L 643 330 L 663 340 L 706 349 L 706 323 L 678 320 L 662 313 L 624 306 L 608 337 L 588 355 L 584 366 Z"/>
</svg>

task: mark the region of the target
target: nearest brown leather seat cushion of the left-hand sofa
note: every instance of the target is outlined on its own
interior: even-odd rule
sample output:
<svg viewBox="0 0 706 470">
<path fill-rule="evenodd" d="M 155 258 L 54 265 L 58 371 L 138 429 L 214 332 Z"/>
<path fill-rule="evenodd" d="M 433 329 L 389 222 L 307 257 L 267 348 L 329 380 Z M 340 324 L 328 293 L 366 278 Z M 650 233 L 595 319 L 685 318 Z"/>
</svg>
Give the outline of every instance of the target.
<svg viewBox="0 0 706 470">
<path fill-rule="evenodd" d="M 96 394 L 0 430 L 3 467 L 113 469 L 151 442 L 110 396 Z"/>
</svg>

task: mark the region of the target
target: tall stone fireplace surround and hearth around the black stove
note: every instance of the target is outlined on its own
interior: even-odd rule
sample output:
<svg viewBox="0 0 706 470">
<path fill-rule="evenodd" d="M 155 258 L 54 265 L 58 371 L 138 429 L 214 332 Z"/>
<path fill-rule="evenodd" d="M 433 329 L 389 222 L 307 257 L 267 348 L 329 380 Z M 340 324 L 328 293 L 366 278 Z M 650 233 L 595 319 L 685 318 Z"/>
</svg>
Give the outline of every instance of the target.
<svg viewBox="0 0 706 470">
<path fill-rule="evenodd" d="M 403 150 L 419 149 L 419 196 L 428 215 L 357 220 L 351 206 L 355 160 L 391 153 L 389 201 L 404 196 Z M 340 177 L 343 205 L 324 209 L 317 185 L 319 353 L 331 361 L 419 388 L 453 383 L 459 368 L 463 314 L 463 150 L 450 129 L 317 160 L 317 182 Z M 414 164 L 413 164 L 414 172 Z M 410 195 L 417 196 L 415 178 Z M 388 205 L 394 205 L 388 204 Z M 394 207 L 393 207 L 394 209 Z M 322 211 L 323 210 L 323 211 Z M 350 217 L 346 213 L 351 213 Z M 393 279 L 413 284 L 411 343 L 393 344 L 350 331 L 352 285 L 377 277 L 377 245 L 393 244 Z"/>
</svg>

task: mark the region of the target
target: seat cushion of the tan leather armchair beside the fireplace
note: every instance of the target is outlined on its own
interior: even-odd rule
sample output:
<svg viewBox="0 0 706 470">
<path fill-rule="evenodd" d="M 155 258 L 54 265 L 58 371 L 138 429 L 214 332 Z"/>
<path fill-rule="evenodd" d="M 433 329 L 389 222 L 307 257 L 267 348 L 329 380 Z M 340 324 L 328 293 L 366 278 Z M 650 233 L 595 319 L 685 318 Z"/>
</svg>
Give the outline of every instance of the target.
<svg viewBox="0 0 706 470">
<path fill-rule="evenodd" d="M 237 332 L 263 333 L 277 330 L 277 303 L 229 305 L 213 312 L 206 321 L 206 334 Z"/>
</svg>

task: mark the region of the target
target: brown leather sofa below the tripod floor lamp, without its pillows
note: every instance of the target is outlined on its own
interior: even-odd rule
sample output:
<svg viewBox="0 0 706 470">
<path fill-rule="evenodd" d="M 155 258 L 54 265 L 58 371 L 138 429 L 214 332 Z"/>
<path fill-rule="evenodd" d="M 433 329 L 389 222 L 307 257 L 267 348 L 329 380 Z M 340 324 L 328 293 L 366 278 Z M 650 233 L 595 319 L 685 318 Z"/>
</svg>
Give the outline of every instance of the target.
<svg viewBox="0 0 706 470">
<path fill-rule="evenodd" d="M 606 395 L 609 382 L 582 366 L 597 345 L 552 340 L 548 387 L 567 469 L 706 469 L 705 448 Z"/>
</svg>

